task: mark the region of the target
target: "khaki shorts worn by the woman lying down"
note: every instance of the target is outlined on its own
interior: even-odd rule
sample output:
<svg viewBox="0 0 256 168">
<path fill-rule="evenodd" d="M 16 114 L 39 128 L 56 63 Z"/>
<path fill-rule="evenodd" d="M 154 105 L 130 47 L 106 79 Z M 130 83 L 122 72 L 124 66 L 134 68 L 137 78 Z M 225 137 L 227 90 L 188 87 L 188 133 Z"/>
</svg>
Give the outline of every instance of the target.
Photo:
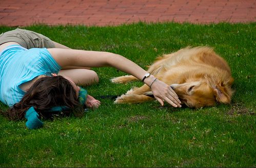
<svg viewBox="0 0 256 168">
<path fill-rule="evenodd" d="M 31 48 L 54 48 L 55 45 L 48 37 L 24 29 L 15 29 L 0 35 L 0 45 L 6 42 L 17 42 L 26 49 Z"/>
</svg>

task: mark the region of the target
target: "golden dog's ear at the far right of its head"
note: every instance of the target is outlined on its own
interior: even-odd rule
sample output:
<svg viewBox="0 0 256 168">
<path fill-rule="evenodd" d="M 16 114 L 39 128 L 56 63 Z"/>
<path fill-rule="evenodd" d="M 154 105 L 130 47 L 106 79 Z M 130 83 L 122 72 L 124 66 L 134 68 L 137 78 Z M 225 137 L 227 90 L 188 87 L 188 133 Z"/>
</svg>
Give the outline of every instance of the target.
<svg viewBox="0 0 256 168">
<path fill-rule="evenodd" d="M 231 95 L 228 94 L 228 92 L 225 90 L 224 87 L 220 85 L 215 86 L 213 88 L 213 93 L 215 95 L 217 102 L 225 103 L 225 104 L 230 102 Z"/>
</svg>

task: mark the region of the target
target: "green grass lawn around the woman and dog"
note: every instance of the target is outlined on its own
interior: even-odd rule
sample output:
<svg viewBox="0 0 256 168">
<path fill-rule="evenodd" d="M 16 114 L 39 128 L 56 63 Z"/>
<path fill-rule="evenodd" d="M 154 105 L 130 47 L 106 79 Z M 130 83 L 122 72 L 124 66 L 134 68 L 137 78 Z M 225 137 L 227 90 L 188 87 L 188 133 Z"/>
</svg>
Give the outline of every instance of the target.
<svg viewBox="0 0 256 168">
<path fill-rule="evenodd" d="M 12 30 L 0 27 L 0 33 Z M 117 27 L 31 26 L 73 49 L 121 54 L 143 68 L 156 56 L 185 46 L 208 45 L 232 70 L 235 93 L 230 105 L 199 110 L 127 105 L 100 99 L 99 109 L 82 118 L 44 121 L 28 130 L 25 120 L 0 115 L 1 167 L 255 167 L 256 23 L 192 25 L 134 23 Z M 112 84 L 126 75 L 110 67 L 93 68 L 99 84 L 89 94 L 119 95 L 141 82 Z M 1 109 L 7 107 L 0 104 Z"/>
</svg>

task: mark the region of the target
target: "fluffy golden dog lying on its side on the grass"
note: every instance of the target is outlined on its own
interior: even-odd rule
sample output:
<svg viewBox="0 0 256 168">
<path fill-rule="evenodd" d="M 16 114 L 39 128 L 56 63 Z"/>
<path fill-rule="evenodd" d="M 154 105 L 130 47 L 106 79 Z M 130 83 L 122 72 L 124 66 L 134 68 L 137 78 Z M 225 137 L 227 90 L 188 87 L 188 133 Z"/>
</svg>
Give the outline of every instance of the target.
<svg viewBox="0 0 256 168">
<path fill-rule="evenodd" d="M 211 47 L 185 47 L 160 56 L 149 66 L 148 73 L 170 85 L 182 104 L 190 108 L 230 103 L 233 78 L 227 62 Z M 138 80 L 134 76 L 112 78 L 113 83 Z M 153 100 L 149 86 L 134 87 L 117 97 L 114 103 L 142 103 Z"/>
</svg>

